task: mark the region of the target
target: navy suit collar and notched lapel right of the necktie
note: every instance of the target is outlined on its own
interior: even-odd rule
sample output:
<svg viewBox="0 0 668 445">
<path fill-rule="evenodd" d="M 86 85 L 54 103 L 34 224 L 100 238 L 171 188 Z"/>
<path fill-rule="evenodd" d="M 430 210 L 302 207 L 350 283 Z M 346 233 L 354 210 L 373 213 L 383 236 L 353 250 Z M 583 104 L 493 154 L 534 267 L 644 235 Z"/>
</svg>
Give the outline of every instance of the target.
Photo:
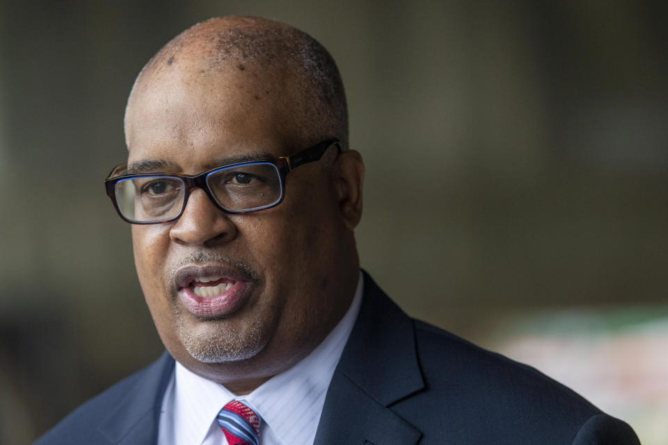
<svg viewBox="0 0 668 445">
<path fill-rule="evenodd" d="M 413 322 L 364 274 L 364 298 L 327 391 L 315 445 L 413 445 L 390 406 L 424 388 Z"/>
</svg>

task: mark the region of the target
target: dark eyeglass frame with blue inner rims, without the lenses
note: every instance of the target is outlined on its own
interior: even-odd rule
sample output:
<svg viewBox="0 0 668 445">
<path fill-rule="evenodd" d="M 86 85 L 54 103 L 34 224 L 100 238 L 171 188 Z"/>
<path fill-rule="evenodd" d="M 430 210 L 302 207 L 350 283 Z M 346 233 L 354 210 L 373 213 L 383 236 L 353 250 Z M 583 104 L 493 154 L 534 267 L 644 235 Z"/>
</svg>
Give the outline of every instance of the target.
<svg viewBox="0 0 668 445">
<path fill-rule="evenodd" d="M 186 209 L 186 204 L 188 204 L 188 198 L 193 188 L 201 188 L 203 191 L 205 191 L 205 193 L 209 197 L 209 200 L 211 200 L 211 202 L 213 202 L 214 205 L 216 206 L 216 209 L 219 209 L 224 213 L 229 213 L 232 215 L 252 213 L 255 211 L 271 209 L 272 207 L 276 207 L 278 206 L 278 204 L 283 202 L 283 199 L 285 198 L 285 177 L 287 176 L 287 174 L 292 170 L 294 170 L 295 168 L 299 167 L 300 165 L 319 161 L 322 158 L 322 156 L 324 156 L 325 152 L 329 149 L 329 147 L 331 147 L 332 145 L 336 145 L 337 155 L 340 154 L 340 152 L 342 152 L 340 140 L 328 139 L 324 140 L 321 143 L 317 143 L 312 147 L 303 149 L 301 152 L 294 154 L 292 156 L 278 156 L 275 158 L 257 159 L 254 161 L 245 161 L 245 162 L 237 162 L 226 165 L 218 165 L 218 167 L 210 168 L 209 170 L 198 173 L 197 175 L 180 175 L 178 173 L 154 172 L 154 173 L 136 173 L 134 175 L 113 176 L 116 172 L 127 168 L 127 162 L 125 162 L 116 165 L 116 167 L 114 167 L 113 170 L 111 170 L 106 179 L 104 179 L 104 187 L 106 188 L 106 195 L 109 196 L 109 198 L 111 199 L 113 208 L 116 209 L 116 213 L 118 213 L 118 216 L 120 216 L 120 218 L 124 220 L 126 223 L 130 224 L 138 224 L 138 225 L 162 224 L 162 223 L 170 223 L 171 221 L 177 220 L 178 218 L 181 217 L 183 211 Z M 207 184 L 207 176 L 218 170 L 234 168 L 238 167 L 239 165 L 254 165 L 257 163 L 270 163 L 276 168 L 276 171 L 278 171 L 278 177 L 280 179 L 280 197 L 278 197 L 278 200 L 276 200 L 276 202 L 273 202 L 271 204 L 267 204 L 261 207 L 255 207 L 253 209 L 245 209 L 245 210 L 225 209 L 225 207 L 223 207 L 218 202 L 218 200 L 216 200 L 214 193 L 212 192 L 211 188 L 209 188 L 209 184 Z M 183 195 L 183 205 L 181 207 L 181 211 L 177 214 L 177 216 L 174 216 L 173 218 L 168 218 L 166 220 L 157 220 L 157 221 L 136 221 L 136 220 L 130 220 L 129 218 L 123 216 L 123 213 L 120 211 L 120 208 L 118 207 L 118 201 L 116 200 L 116 184 L 120 181 L 124 181 L 131 178 L 163 177 L 163 176 L 180 179 L 185 186 Z"/>
</svg>

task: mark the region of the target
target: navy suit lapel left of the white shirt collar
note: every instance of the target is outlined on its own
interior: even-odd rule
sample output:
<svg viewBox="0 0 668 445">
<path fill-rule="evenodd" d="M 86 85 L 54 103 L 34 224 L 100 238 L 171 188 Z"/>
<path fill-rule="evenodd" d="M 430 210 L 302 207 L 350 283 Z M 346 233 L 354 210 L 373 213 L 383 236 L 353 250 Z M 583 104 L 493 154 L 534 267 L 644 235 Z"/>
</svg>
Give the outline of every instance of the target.
<svg viewBox="0 0 668 445">
<path fill-rule="evenodd" d="M 156 444 L 162 398 L 174 371 L 174 359 L 164 353 L 138 375 L 125 399 L 100 421 L 100 432 L 118 445 Z"/>
</svg>

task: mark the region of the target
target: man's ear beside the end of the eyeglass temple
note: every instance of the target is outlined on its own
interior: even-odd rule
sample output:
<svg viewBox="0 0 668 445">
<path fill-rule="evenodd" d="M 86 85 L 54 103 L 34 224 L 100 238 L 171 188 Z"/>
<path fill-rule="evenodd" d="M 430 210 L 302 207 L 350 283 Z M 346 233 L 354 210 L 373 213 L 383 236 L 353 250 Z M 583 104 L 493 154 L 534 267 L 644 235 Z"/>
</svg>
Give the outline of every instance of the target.
<svg viewBox="0 0 668 445">
<path fill-rule="evenodd" d="M 346 228 L 352 231 L 362 218 L 364 161 L 356 150 L 346 150 L 337 156 L 333 167 L 339 213 Z"/>
</svg>

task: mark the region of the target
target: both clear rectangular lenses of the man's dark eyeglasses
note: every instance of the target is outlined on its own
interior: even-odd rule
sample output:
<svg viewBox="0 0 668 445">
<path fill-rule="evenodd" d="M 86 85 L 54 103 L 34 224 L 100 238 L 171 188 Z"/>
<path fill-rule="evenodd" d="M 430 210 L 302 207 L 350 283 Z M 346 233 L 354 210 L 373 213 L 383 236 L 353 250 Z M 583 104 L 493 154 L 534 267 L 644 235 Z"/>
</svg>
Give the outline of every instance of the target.
<svg viewBox="0 0 668 445">
<path fill-rule="evenodd" d="M 247 163 L 210 172 L 206 184 L 218 205 L 230 211 L 270 207 L 280 200 L 280 175 L 272 163 Z M 176 218 L 184 207 L 186 184 L 169 175 L 122 179 L 116 183 L 120 213 L 138 223 Z"/>
</svg>

